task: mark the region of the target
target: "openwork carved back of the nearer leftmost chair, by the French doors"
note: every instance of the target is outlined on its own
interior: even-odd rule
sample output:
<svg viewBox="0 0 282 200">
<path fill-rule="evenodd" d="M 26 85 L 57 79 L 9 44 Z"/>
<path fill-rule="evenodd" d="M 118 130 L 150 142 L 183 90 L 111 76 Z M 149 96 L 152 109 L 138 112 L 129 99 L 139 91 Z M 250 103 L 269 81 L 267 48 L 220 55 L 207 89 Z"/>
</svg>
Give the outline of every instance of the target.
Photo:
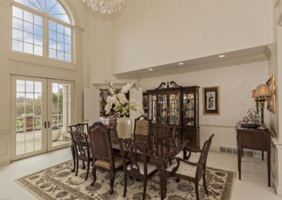
<svg viewBox="0 0 282 200">
<path fill-rule="evenodd" d="M 82 158 L 82 160 L 90 159 L 90 149 L 87 142 L 87 135 L 85 132 L 70 131 L 73 139 L 73 146 L 75 147 L 75 154 Z"/>
</svg>

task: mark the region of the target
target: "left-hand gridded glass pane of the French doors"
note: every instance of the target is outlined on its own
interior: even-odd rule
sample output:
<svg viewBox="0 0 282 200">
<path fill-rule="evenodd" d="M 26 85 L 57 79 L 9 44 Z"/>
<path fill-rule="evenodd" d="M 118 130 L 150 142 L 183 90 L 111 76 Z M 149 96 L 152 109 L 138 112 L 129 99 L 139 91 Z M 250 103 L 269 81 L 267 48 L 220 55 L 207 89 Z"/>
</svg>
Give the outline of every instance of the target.
<svg viewBox="0 0 282 200">
<path fill-rule="evenodd" d="M 44 144 L 44 121 L 46 116 L 42 115 L 44 108 L 43 85 L 44 81 L 35 78 L 13 77 L 13 88 L 16 88 L 16 101 L 11 100 L 16 107 L 12 111 L 15 115 L 15 126 L 12 130 L 15 134 L 15 152 L 13 158 L 23 158 L 32 154 L 46 151 Z M 13 103 L 15 102 L 15 104 Z M 13 110 L 13 109 L 12 109 Z"/>
</svg>

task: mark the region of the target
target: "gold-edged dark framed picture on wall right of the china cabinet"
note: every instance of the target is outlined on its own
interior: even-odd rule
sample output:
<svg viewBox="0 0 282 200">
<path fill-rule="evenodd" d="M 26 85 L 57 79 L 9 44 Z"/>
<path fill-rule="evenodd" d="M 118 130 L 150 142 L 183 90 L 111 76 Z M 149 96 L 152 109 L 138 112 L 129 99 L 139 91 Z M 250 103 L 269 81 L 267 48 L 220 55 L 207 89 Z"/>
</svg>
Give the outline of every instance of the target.
<svg viewBox="0 0 282 200">
<path fill-rule="evenodd" d="M 203 114 L 219 115 L 219 86 L 203 87 Z"/>
</svg>

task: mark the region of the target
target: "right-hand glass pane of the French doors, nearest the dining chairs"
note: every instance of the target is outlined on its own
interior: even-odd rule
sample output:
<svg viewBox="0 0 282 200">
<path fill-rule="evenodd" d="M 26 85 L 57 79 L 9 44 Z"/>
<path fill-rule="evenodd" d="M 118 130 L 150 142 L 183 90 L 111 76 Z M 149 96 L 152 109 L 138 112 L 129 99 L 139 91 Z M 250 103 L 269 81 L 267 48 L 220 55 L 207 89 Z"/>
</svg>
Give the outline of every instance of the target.
<svg viewBox="0 0 282 200">
<path fill-rule="evenodd" d="M 71 135 L 68 126 L 71 125 L 73 112 L 73 84 L 62 81 L 49 81 L 49 149 L 68 146 Z M 50 99 L 51 98 L 51 99 Z M 60 147 L 61 146 L 61 147 Z"/>
</svg>

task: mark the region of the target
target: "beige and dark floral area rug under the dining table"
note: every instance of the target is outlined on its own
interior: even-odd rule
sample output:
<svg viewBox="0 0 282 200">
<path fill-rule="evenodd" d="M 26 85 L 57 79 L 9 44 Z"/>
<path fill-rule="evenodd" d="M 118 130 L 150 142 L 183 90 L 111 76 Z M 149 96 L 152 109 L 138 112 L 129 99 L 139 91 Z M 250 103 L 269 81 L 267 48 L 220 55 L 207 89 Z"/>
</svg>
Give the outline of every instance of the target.
<svg viewBox="0 0 282 200">
<path fill-rule="evenodd" d="M 97 170 L 97 181 L 91 186 L 92 175 L 85 181 L 86 169 L 80 168 L 78 176 L 71 173 L 72 161 L 55 165 L 51 168 L 21 177 L 16 180 L 38 199 L 142 199 L 143 183 L 128 179 L 126 197 L 123 198 L 123 170 L 116 173 L 114 194 L 109 194 L 109 173 Z M 207 186 L 209 195 L 204 193 L 202 181 L 200 182 L 200 199 L 230 199 L 235 173 L 207 168 Z M 160 199 L 159 175 L 156 174 L 147 182 L 146 199 Z M 182 200 L 195 199 L 195 187 L 192 182 L 175 178 L 168 179 L 166 199 Z"/>
</svg>

